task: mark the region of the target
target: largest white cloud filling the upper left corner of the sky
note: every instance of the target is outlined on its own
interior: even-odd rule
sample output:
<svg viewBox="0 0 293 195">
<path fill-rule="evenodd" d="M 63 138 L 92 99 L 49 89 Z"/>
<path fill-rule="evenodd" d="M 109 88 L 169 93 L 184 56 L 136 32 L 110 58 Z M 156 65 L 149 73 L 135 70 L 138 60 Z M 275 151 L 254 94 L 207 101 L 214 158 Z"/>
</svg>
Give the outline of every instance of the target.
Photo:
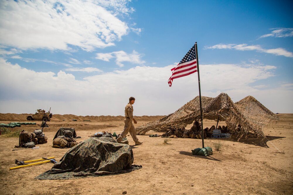
<svg viewBox="0 0 293 195">
<path fill-rule="evenodd" d="M 113 46 L 129 31 L 127 0 L 0 1 L 0 44 L 19 49 L 86 51 Z"/>
</svg>

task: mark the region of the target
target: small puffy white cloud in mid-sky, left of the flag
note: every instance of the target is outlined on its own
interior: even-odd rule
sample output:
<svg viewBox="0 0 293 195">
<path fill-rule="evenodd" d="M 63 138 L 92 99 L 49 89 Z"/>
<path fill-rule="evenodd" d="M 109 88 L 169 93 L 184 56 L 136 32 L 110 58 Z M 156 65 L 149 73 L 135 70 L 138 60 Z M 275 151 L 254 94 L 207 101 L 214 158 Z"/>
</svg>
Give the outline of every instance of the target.
<svg viewBox="0 0 293 195">
<path fill-rule="evenodd" d="M 144 64 L 142 54 L 137 53 L 135 50 L 132 51 L 132 54 L 127 54 L 125 51 L 114 51 L 111 53 L 98 53 L 96 54 L 96 59 L 103 61 L 110 61 L 111 58 L 116 58 L 116 64 L 119 67 L 123 67 L 122 62 L 130 62 L 133 64 Z"/>
</svg>

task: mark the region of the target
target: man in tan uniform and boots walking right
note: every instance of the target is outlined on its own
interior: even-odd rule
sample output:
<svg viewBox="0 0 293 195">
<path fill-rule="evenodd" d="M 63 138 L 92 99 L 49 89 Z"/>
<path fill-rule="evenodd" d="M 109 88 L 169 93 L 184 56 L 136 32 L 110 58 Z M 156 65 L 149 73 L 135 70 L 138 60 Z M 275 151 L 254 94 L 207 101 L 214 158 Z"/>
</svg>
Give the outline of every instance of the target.
<svg viewBox="0 0 293 195">
<path fill-rule="evenodd" d="M 124 119 L 124 130 L 120 133 L 119 137 L 117 138 L 117 142 L 121 143 L 122 138 L 127 135 L 128 132 L 130 132 L 130 135 L 135 142 L 135 145 L 142 144 L 142 142 L 138 141 L 138 138 L 136 137 L 135 134 L 135 127 L 132 124 L 132 120 L 134 124 L 137 124 L 137 121 L 133 117 L 133 104 L 135 102 L 134 97 L 129 98 L 129 103 L 125 106 L 125 119 Z"/>
</svg>

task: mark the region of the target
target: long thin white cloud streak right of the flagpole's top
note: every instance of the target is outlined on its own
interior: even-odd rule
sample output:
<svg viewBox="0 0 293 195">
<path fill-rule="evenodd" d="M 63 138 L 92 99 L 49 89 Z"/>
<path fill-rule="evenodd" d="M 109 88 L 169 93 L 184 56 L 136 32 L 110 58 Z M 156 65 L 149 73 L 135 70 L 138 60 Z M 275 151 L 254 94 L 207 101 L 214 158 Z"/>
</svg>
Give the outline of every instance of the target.
<svg viewBox="0 0 293 195">
<path fill-rule="evenodd" d="M 239 51 L 249 51 L 255 50 L 258 52 L 268 53 L 268 54 L 275 54 L 277 56 L 286 56 L 293 58 L 293 53 L 287 51 L 283 48 L 276 48 L 276 49 L 263 49 L 259 45 L 247 45 L 247 44 L 217 44 L 214 46 L 206 46 L 205 49 L 236 49 Z"/>
</svg>

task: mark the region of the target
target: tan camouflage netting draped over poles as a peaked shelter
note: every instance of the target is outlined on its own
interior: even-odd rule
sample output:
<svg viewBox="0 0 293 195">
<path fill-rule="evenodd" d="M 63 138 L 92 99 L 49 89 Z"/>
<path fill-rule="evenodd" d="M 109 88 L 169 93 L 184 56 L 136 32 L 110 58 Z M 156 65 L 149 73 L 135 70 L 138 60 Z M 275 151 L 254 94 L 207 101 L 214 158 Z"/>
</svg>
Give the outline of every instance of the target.
<svg viewBox="0 0 293 195">
<path fill-rule="evenodd" d="M 227 128 L 231 133 L 236 133 L 238 139 L 249 133 L 265 138 L 262 131 L 263 126 L 272 120 L 278 120 L 274 113 L 252 96 L 247 96 L 236 103 L 225 93 L 221 93 L 215 98 L 202 96 L 202 111 L 204 119 L 217 121 L 219 118 L 219 120 L 226 121 Z M 172 127 L 182 129 L 194 120 L 200 121 L 199 96 L 176 112 L 137 127 L 136 133 L 143 135 L 150 130 L 166 132 Z M 237 129 L 238 125 L 241 125 L 240 130 Z"/>
</svg>

